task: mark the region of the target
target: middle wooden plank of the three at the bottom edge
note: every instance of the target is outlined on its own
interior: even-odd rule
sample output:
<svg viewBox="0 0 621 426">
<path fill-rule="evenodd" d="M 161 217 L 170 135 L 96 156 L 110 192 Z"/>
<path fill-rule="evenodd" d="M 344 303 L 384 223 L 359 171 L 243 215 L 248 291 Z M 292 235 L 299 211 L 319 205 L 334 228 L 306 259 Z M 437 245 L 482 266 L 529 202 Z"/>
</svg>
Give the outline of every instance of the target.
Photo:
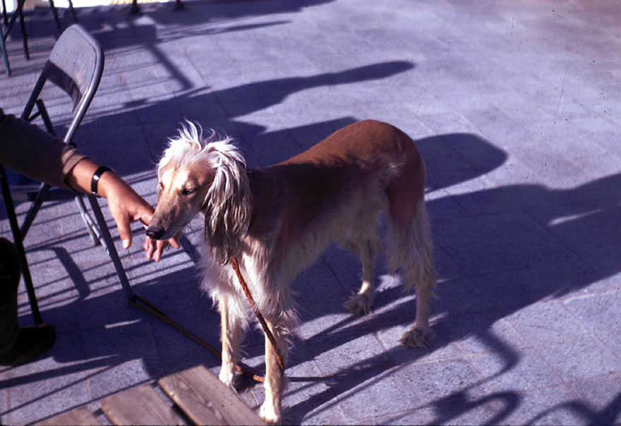
<svg viewBox="0 0 621 426">
<path fill-rule="evenodd" d="M 187 424 L 148 384 L 108 396 L 100 407 L 114 425 Z"/>
</svg>

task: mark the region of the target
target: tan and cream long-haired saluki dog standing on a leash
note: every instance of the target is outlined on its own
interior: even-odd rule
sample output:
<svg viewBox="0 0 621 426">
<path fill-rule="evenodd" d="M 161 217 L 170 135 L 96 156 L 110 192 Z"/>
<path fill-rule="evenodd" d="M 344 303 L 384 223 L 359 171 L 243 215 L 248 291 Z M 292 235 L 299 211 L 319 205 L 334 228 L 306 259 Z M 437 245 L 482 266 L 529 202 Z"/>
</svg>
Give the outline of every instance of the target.
<svg viewBox="0 0 621 426">
<path fill-rule="evenodd" d="M 205 214 L 203 287 L 222 319 L 219 379 L 232 386 L 243 330 L 251 310 L 231 257 L 248 282 L 258 310 L 287 359 L 297 317 L 289 289 L 301 269 L 337 242 L 357 253 L 362 286 L 346 301 L 356 315 L 373 303 L 375 255 L 385 250 L 387 269 L 401 272 L 406 290 L 416 286 L 416 319 L 401 341 L 426 346 L 435 286 L 426 209 L 425 166 L 414 141 L 379 121 L 361 121 L 285 162 L 265 169 L 246 166 L 229 138 L 193 123 L 169 140 L 157 166 L 158 202 L 147 236 L 167 240 L 198 212 Z M 378 228 L 387 218 L 382 245 Z M 265 339 L 267 422 L 281 420 L 284 379 L 275 348 Z"/>
</svg>

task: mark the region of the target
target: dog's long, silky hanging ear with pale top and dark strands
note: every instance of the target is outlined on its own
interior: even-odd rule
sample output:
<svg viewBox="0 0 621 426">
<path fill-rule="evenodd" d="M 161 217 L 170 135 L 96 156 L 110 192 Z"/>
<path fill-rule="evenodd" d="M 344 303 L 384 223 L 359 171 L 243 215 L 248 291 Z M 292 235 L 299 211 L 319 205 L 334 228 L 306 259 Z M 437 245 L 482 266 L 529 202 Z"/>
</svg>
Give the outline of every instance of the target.
<svg viewBox="0 0 621 426">
<path fill-rule="evenodd" d="M 205 197 L 205 243 L 220 264 L 229 262 L 248 233 L 251 193 L 246 162 L 239 150 L 227 142 L 207 146 L 215 172 Z"/>
</svg>

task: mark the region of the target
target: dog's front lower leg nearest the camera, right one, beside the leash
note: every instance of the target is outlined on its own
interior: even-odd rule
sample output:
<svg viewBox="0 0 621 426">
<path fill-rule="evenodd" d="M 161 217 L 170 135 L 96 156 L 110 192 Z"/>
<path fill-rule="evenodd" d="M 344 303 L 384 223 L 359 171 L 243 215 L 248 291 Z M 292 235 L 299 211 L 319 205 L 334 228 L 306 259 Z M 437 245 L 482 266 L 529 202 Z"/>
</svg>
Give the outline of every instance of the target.
<svg viewBox="0 0 621 426">
<path fill-rule="evenodd" d="M 274 336 L 277 350 L 282 358 L 282 363 L 287 364 L 289 345 L 287 339 L 282 335 L 272 322 L 267 321 L 267 327 Z M 260 409 L 260 416 L 269 423 L 279 423 L 281 417 L 282 393 L 284 391 L 284 372 L 281 372 L 275 353 L 275 348 L 270 340 L 265 336 L 265 401 Z"/>
</svg>

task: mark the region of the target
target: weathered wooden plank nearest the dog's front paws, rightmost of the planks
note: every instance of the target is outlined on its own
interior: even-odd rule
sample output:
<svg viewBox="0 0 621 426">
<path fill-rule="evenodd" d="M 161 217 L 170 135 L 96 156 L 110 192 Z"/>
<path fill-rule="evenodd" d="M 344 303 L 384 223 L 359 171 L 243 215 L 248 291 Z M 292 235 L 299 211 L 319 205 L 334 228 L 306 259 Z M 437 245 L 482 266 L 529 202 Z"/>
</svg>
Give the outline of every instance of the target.
<svg viewBox="0 0 621 426">
<path fill-rule="evenodd" d="M 162 377 L 159 387 L 197 425 L 264 425 L 232 389 L 202 365 Z"/>
</svg>

